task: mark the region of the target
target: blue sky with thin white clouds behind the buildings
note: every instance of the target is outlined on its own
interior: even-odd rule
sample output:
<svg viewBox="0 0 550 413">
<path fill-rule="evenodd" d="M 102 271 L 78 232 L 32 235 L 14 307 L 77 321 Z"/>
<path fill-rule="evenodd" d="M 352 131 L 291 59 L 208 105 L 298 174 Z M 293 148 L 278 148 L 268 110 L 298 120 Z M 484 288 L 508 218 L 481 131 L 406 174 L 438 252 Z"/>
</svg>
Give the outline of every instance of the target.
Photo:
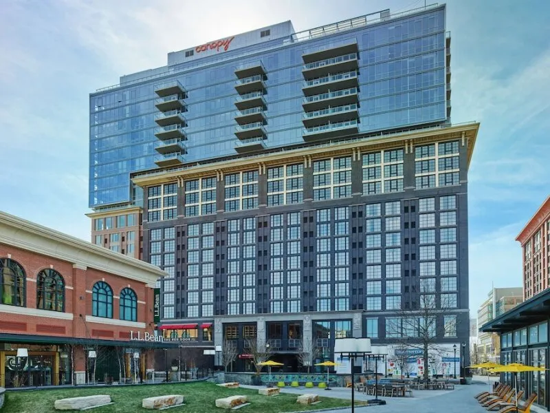
<svg viewBox="0 0 550 413">
<path fill-rule="evenodd" d="M 0 210 L 89 240 L 88 94 L 122 74 L 165 65 L 168 52 L 280 21 L 292 20 L 300 31 L 423 3 L 3 1 Z M 452 121 L 481 122 L 469 175 L 475 311 L 492 284 L 521 285 L 514 239 L 550 193 L 550 1 L 447 4 Z"/>
</svg>

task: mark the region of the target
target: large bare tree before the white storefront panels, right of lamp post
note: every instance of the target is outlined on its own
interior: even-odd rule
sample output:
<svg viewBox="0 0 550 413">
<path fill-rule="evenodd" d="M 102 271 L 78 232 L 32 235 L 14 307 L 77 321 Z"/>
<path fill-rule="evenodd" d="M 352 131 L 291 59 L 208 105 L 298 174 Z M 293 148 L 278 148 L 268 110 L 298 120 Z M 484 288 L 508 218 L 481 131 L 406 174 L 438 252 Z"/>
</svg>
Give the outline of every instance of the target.
<svg viewBox="0 0 550 413">
<path fill-rule="evenodd" d="M 441 335 L 437 336 L 437 324 L 443 321 L 443 317 L 454 315 L 453 310 L 456 308 L 443 299 L 438 303 L 435 294 L 421 294 L 419 304 L 417 310 L 399 310 L 396 317 L 386 318 L 386 330 L 390 336 L 388 338 L 397 339 L 398 348 L 402 346 L 421 350 L 423 378 L 428 379 L 430 355 L 443 354 L 438 343 Z M 456 330 L 456 317 L 445 321 L 444 332 L 456 335 Z"/>
</svg>

